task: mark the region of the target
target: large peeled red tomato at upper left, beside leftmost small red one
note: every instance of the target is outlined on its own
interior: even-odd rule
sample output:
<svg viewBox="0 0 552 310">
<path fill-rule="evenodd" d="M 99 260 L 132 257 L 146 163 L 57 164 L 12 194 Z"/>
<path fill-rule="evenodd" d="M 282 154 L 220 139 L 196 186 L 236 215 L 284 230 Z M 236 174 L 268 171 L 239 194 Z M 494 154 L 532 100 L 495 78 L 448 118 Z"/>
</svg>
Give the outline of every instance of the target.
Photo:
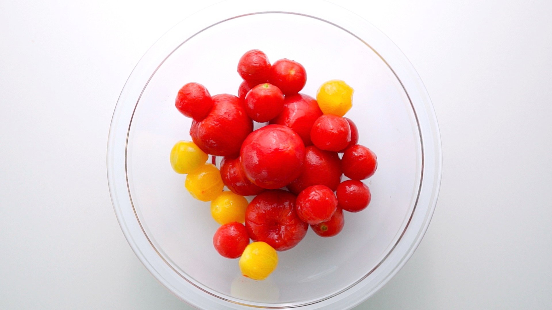
<svg viewBox="0 0 552 310">
<path fill-rule="evenodd" d="M 192 141 L 205 153 L 237 156 L 243 140 L 253 131 L 253 121 L 234 95 L 215 95 L 213 103 L 205 119 L 192 122 Z"/>
</svg>

